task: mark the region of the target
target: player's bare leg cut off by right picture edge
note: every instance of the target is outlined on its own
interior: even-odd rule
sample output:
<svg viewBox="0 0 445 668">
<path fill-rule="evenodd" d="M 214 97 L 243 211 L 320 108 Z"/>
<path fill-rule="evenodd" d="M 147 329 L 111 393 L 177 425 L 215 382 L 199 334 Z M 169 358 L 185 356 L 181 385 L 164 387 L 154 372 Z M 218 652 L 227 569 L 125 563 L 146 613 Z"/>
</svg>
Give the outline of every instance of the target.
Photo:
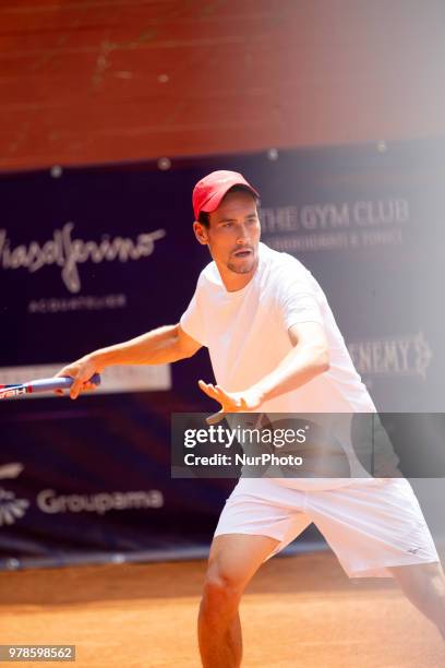
<svg viewBox="0 0 445 668">
<path fill-rule="evenodd" d="M 409 600 L 445 640 L 445 576 L 438 562 L 389 569 Z"/>
</svg>

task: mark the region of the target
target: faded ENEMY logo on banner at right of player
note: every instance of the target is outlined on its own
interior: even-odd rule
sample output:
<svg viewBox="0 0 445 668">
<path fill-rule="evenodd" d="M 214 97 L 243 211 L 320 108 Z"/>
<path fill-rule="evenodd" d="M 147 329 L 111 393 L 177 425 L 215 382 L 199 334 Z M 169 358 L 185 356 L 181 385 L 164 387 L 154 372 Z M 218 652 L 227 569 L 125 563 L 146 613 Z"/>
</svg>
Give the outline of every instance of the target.
<svg viewBox="0 0 445 668">
<path fill-rule="evenodd" d="M 359 373 L 373 375 L 421 375 L 433 358 L 431 347 L 423 336 L 374 338 L 348 344 L 348 350 Z"/>
</svg>

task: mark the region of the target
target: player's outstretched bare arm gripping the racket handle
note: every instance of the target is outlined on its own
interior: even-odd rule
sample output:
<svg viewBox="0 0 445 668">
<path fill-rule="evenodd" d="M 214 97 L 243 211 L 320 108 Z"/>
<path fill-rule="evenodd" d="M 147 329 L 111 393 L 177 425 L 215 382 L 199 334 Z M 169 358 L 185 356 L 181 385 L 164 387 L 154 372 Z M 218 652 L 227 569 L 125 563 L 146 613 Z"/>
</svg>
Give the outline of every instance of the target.
<svg viewBox="0 0 445 668">
<path fill-rule="evenodd" d="M 189 336 L 179 324 L 166 325 L 130 341 L 89 353 L 72 365 L 63 367 L 58 375 L 70 375 L 74 379 L 70 396 L 76 398 L 81 391 L 92 389 L 92 384 L 87 382 L 92 375 L 101 373 L 107 367 L 166 365 L 192 357 L 200 348 L 201 344 Z"/>
</svg>

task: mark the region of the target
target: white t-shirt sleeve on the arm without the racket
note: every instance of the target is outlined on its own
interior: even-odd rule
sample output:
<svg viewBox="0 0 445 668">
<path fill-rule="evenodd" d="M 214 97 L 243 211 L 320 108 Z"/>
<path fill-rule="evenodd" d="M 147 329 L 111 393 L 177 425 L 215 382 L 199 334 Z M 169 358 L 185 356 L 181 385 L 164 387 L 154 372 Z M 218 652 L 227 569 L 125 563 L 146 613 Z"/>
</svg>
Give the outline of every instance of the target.
<svg viewBox="0 0 445 668">
<path fill-rule="evenodd" d="M 324 324 L 317 300 L 317 283 L 303 266 L 286 267 L 279 277 L 277 301 L 286 330 L 301 322 Z"/>
</svg>

